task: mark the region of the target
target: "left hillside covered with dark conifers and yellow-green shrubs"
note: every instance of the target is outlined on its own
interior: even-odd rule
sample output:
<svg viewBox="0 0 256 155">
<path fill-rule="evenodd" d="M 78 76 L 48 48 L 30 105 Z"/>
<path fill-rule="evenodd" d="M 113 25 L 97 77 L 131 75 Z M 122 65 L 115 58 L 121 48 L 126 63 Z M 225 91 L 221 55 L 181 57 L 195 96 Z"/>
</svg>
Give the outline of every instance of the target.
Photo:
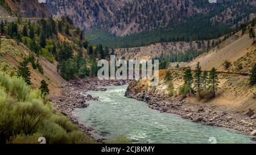
<svg viewBox="0 0 256 155">
<path fill-rule="evenodd" d="M 1 32 L 7 34 L 7 39 L 26 45 L 35 55 L 57 64 L 57 71 L 67 80 L 96 76 L 96 59 L 110 55 L 108 47 L 89 44 L 83 32 L 67 16 L 33 23 L 22 19 L 6 24 L 1 21 Z"/>
</svg>

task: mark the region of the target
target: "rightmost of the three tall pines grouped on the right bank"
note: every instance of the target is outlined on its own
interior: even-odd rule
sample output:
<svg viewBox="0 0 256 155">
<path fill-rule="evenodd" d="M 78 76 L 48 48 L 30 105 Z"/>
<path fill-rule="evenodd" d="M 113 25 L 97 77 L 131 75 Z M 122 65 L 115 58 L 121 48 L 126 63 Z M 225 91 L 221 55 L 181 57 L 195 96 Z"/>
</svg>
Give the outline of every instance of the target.
<svg viewBox="0 0 256 155">
<path fill-rule="evenodd" d="M 216 97 L 216 91 L 218 89 L 218 83 L 220 83 L 218 81 L 218 73 L 217 70 L 215 68 L 212 68 L 212 70 L 210 70 L 209 72 L 209 88 L 213 93 L 213 97 Z"/>
</svg>

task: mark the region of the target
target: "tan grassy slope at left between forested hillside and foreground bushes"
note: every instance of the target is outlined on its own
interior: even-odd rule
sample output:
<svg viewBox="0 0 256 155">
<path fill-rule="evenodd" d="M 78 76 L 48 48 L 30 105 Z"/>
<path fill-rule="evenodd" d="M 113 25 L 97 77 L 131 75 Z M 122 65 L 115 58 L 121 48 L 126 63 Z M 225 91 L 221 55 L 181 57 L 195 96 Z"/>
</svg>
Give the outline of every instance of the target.
<svg viewBox="0 0 256 155">
<path fill-rule="evenodd" d="M 24 46 L 22 43 L 19 45 L 16 41 L 11 39 L 2 39 L 1 51 L 0 51 L 0 69 L 5 69 L 9 74 L 15 74 L 15 71 L 20 61 L 23 61 L 23 57 L 33 53 Z M 40 86 L 42 79 L 46 80 L 49 84 L 51 95 L 60 95 L 60 86 L 65 84 L 65 80 L 59 76 L 56 70 L 56 64 L 51 64 L 45 58 L 39 56 L 39 62 L 42 64 L 44 74 L 41 74 L 38 70 L 35 70 L 30 66 L 32 87 L 36 88 Z"/>
</svg>

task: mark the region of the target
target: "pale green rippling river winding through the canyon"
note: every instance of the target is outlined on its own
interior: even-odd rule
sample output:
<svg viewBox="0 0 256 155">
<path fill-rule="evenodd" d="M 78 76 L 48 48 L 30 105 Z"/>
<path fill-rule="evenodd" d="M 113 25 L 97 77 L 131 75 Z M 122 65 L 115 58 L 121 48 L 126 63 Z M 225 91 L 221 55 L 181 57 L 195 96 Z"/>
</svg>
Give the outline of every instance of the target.
<svg viewBox="0 0 256 155">
<path fill-rule="evenodd" d="M 127 136 L 134 143 L 255 143 L 231 129 L 189 122 L 179 116 L 161 113 L 147 104 L 124 96 L 127 86 L 106 87 L 107 91 L 88 91 L 100 101 L 76 109 L 79 122 L 95 129 L 107 139 Z M 213 138 L 214 137 L 214 138 Z"/>
</svg>

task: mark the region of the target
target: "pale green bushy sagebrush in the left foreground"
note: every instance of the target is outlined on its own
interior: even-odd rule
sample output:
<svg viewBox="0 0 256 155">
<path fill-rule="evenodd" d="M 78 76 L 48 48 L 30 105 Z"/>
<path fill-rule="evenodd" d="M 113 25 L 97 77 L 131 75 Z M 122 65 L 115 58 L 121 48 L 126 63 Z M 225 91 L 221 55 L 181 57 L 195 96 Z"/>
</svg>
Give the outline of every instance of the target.
<svg viewBox="0 0 256 155">
<path fill-rule="evenodd" d="M 43 82 L 42 82 L 43 83 Z M 0 143 L 94 143 L 65 116 L 53 112 L 40 90 L 31 90 L 19 77 L 0 72 Z"/>
</svg>

